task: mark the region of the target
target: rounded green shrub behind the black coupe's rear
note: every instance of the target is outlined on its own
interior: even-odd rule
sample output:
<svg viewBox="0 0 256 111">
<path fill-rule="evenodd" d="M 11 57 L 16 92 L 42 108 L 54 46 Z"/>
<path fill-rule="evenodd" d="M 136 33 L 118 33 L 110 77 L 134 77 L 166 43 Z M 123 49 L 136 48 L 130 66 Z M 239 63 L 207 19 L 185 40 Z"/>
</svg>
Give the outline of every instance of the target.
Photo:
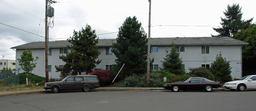
<svg viewBox="0 0 256 111">
<path fill-rule="evenodd" d="M 189 75 L 197 76 L 197 77 L 203 77 L 210 80 L 215 80 L 214 75 L 211 73 L 211 71 L 205 67 L 197 67 L 189 72 Z"/>
</svg>

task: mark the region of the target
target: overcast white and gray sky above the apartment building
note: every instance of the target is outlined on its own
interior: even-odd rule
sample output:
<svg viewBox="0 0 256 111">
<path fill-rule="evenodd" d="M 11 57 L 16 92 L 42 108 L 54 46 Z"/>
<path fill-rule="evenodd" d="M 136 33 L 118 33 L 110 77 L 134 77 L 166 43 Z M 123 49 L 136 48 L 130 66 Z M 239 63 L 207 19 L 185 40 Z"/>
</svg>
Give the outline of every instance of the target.
<svg viewBox="0 0 256 111">
<path fill-rule="evenodd" d="M 86 24 L 95 29 L 100 39 L 117 38 L 115 32 L 128 16 L 136 16 L 148 33 L 148 0 L 56 1 L 51 4 L 55 13 L 50 41 L 67 40 L 74 30 L 79 31 Z M 221 26 L 223 11 L 228 4 L 236 3 L 242 7 L 242 19 L 256 16 L 256 0 L 152 0 L 151 38 L 217 35 L 212 27 Z M 0 59 L 4 55 L 5 60 L 15 60 L 16 52 L 11 47 L 45 41 L 40 37 L 45 36 L 44 19 L 45 0 L 0 0 Z"/>
</svg>

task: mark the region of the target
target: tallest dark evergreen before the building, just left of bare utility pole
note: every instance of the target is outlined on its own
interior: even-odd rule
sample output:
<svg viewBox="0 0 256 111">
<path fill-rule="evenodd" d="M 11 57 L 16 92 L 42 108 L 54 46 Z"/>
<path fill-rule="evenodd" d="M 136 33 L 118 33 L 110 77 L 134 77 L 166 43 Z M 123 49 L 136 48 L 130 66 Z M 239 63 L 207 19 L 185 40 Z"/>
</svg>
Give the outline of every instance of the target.
<svg viewBox="0 0 256 111">
<path fill-rule="evenodd" d="M 126 18 L 117 35 L 117 43 L 113 43 L 112 52 L 115 54 L 117 64 L 113 65 L 113 74 L 117 74 L 125 63 L 119 78 L 132 74 L 147 72 L 147 34 L 137 18 Z"/>
</svg>

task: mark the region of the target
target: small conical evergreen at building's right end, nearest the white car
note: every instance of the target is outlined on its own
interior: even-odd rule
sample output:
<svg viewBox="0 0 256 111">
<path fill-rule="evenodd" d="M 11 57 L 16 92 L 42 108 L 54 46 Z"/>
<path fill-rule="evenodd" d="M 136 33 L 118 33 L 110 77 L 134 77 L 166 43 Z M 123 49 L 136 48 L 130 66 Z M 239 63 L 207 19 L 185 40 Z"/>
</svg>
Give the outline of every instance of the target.
<svg viewBox="0 0 256 111">
<path fill-rule="evenodd" d="M 221 52 L 216 56 L 216 61 L 213 61 L 210 67 L 210 71 L 215 76 L 215 80 L 221 82 L 228 82 L 232 80 L 230 75 L 232 67 L 230 67 L 229 62 L 230 61 L 227 61 L 226 58 L 222 57 Z"/>
</svg>

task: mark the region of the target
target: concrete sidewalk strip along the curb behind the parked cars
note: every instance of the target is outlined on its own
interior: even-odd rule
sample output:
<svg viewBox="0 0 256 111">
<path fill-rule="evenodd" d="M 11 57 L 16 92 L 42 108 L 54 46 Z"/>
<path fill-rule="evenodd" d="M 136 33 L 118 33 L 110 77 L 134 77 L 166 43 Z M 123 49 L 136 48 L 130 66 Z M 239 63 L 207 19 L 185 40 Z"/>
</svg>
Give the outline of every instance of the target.
<svg viewBox="0 0 256 111">
<path fill-rule="evenodd" d="M 92 91 L 171 91 L 163 89 L 162 87 L 99 87 L 96 89 L 91 89 Z M 222 88 L 213 89 L 213 91 L 224 91 Z M 30 93 L 43 93 L 51 92 L 51 90 L 45 89 L 29 89 L 29 90 L 16 90 L 16 91 L 0 91 L 0 96 L 9 95 L 22 95 Z"/>
</svg>

